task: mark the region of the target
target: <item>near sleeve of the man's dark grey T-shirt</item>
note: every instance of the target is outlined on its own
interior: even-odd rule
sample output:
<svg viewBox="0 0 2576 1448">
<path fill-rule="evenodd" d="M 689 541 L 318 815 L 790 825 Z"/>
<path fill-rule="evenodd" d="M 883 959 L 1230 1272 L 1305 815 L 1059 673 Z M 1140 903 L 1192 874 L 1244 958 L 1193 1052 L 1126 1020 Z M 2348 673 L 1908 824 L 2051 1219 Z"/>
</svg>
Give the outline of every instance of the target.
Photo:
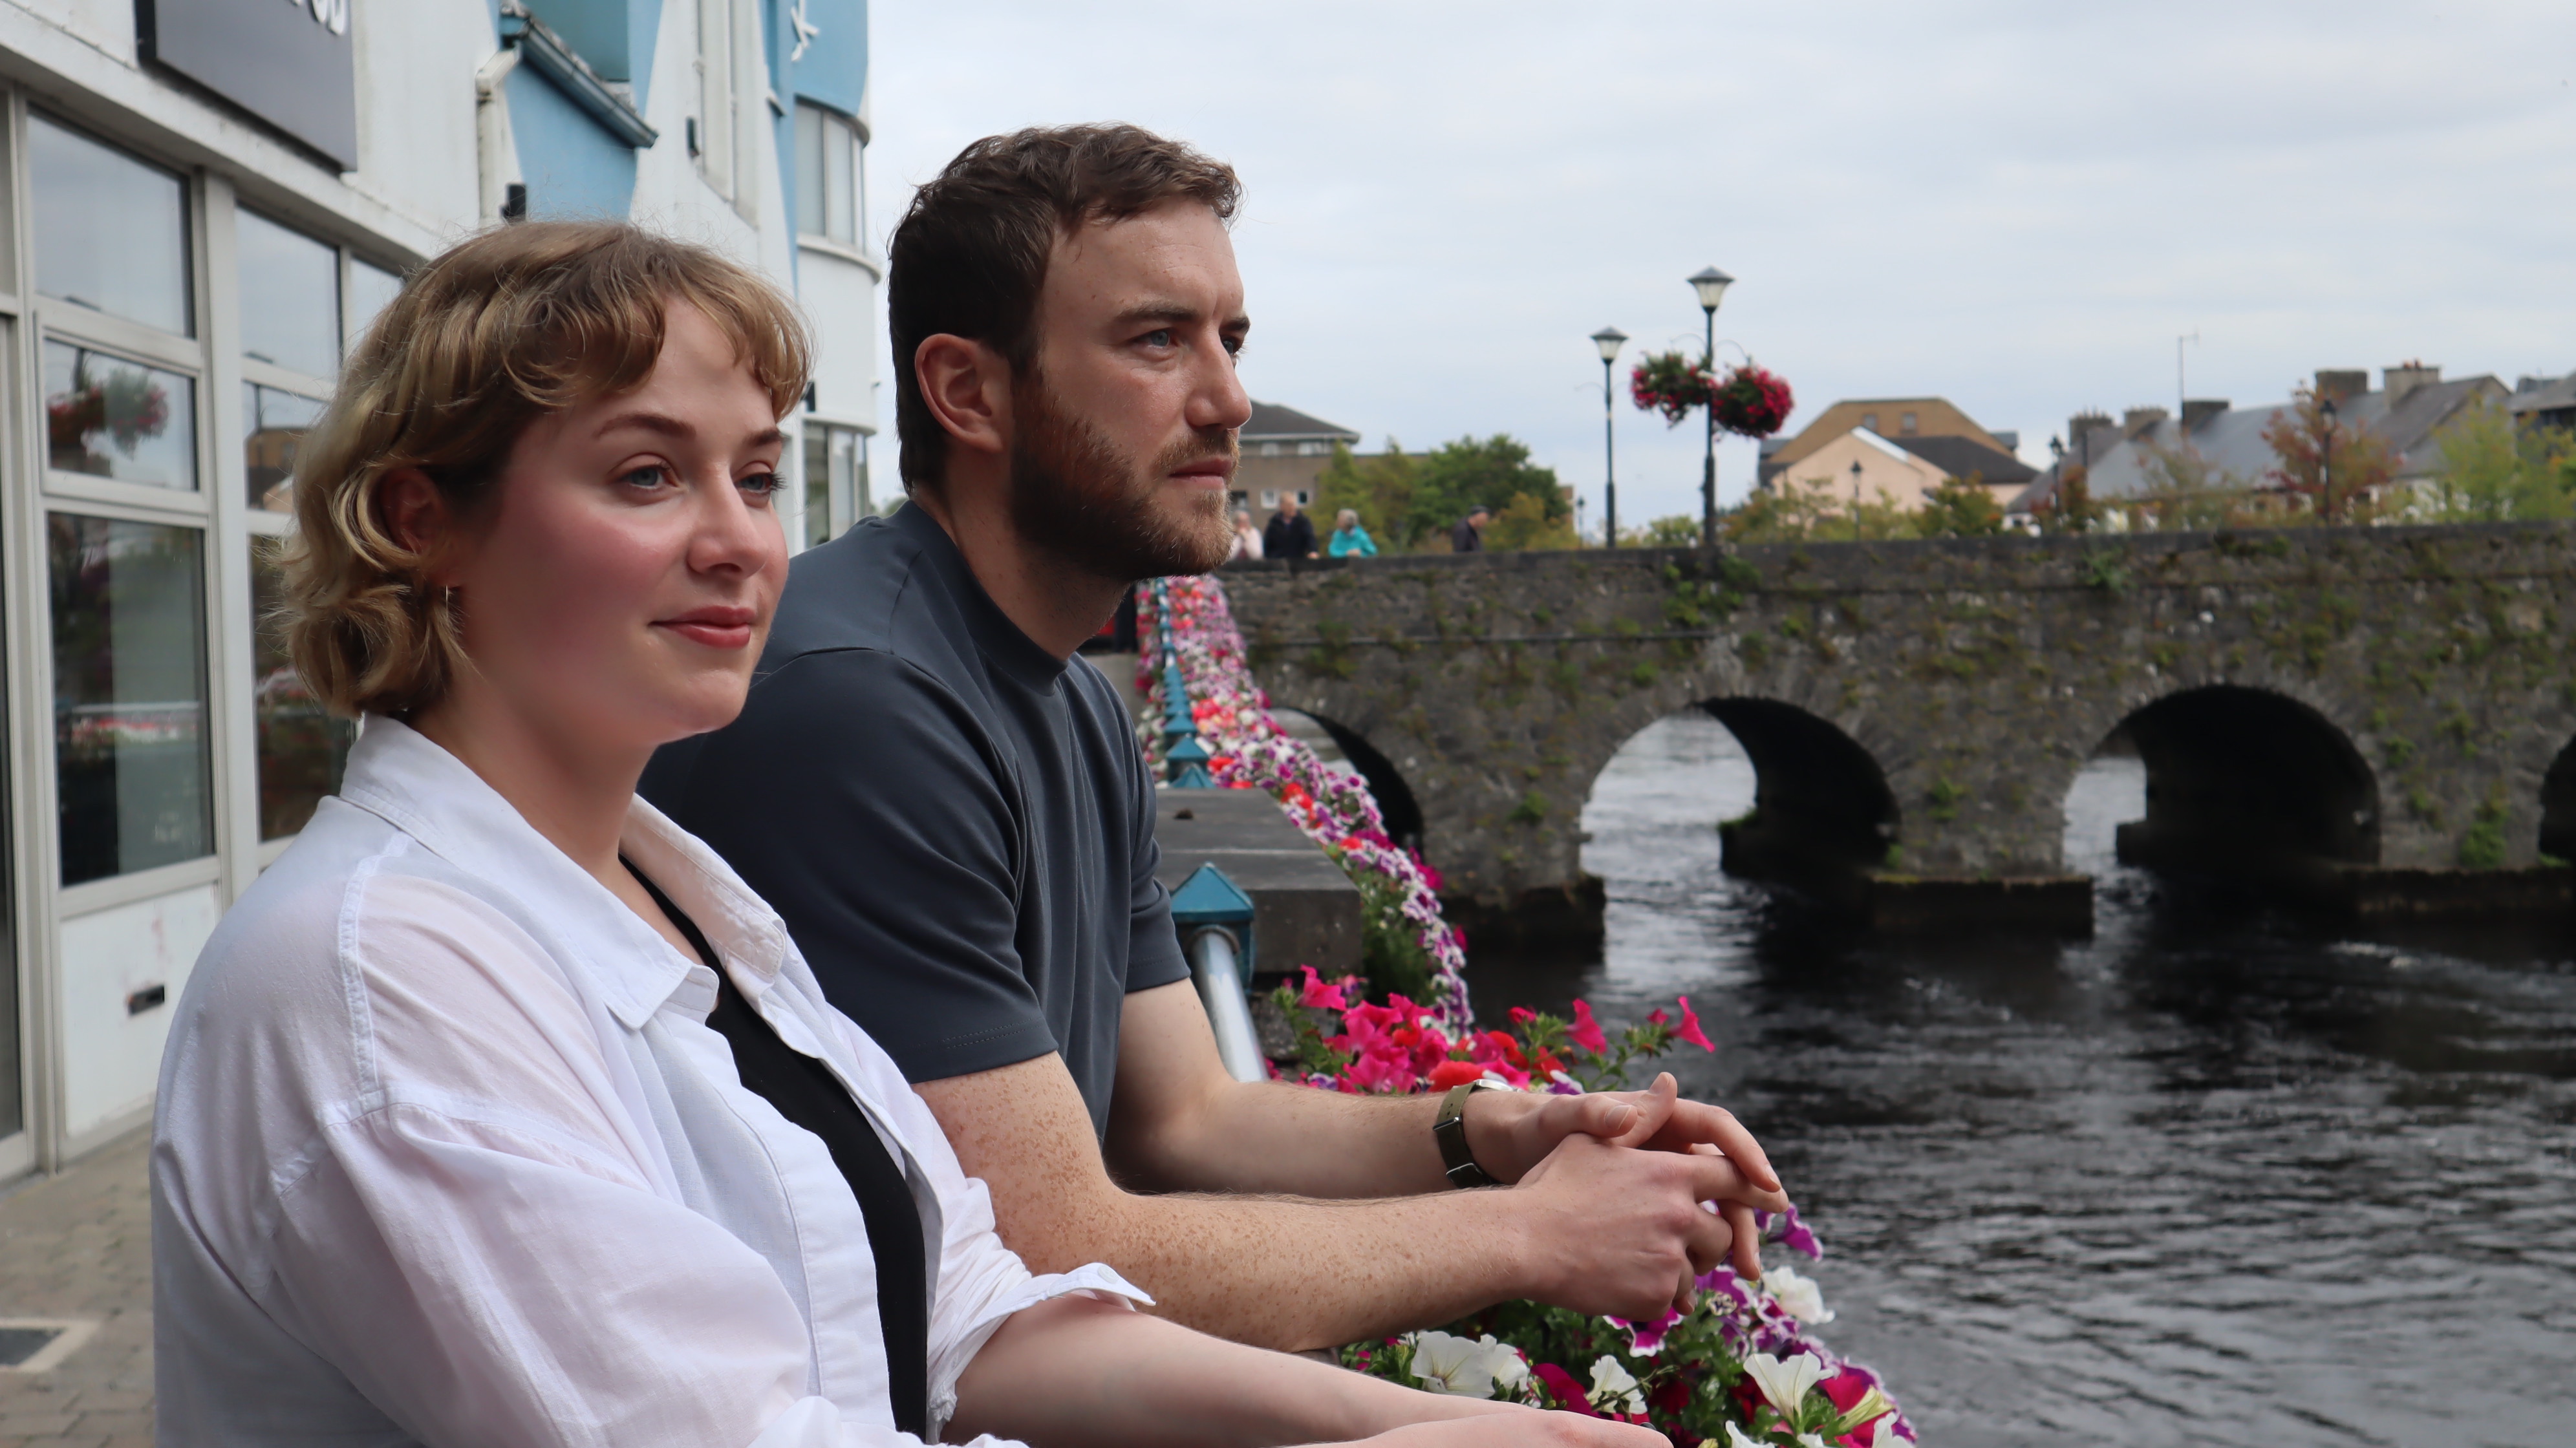
<svg viewBox="0 0 2576 1448">
<path fill-rule="evenodd" d="M 778 910 L 832 1005 L 925 1082 L 1056 1049 L 1015 938 L 1023 845 L 1005 778 L 943 683 L 835 649 L 796 657 L 729 729 L 657 757 L 644 796 Z"/>
</svg>

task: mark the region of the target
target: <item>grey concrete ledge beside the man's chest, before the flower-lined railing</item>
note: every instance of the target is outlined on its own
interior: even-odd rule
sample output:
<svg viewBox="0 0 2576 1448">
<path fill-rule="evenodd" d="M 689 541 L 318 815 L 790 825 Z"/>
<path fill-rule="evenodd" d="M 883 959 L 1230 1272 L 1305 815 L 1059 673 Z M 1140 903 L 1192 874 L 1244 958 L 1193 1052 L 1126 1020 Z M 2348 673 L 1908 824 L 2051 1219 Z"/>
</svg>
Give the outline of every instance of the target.
<svg viewBox="0 0 2576 1448">
<path fill-rule="evenodd" d="M 1265 791 L 1157 788 L 1154 837 L 1164 889 L 1213 863 L 1252 897 L 1255 979 L 1358 974 L 1360 889 Z"/>
</svg>

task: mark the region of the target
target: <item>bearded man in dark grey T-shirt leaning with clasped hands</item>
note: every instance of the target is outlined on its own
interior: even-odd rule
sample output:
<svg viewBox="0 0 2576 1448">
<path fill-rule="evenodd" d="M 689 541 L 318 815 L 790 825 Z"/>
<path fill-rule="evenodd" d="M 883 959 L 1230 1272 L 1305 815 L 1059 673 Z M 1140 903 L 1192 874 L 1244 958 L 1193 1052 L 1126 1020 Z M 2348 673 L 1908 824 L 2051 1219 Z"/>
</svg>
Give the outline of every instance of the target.
<svg viewBox="0 0 2576 1448">
<path fill-rule="evenodd" d="M 1749 1211 L 1785 1206 L 1672 1077 L 1468 1095 L 1453 1172 L 1440 1100 L 1218 1064 L 1154 781 L 1074 649 L 1234 546 L 1236 196 L 1133 126 L 989 137 L 922 186 L 886 283 L 909 505 L 796 559 L 742 716 L 644 794 L 778 907 L 1030 1268 L 1110 1262 L 1270 1348 L 1520 1296 L 1651 1319 L 1728 1255 L 1759 1270 Z"/>
</svg>

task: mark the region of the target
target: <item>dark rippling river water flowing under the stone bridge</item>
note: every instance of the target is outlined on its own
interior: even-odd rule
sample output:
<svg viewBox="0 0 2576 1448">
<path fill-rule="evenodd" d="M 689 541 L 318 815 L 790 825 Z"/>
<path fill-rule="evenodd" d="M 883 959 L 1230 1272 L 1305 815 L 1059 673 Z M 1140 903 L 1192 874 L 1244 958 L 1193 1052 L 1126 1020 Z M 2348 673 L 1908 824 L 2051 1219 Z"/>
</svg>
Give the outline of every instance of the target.
<svg viewBox="0 0 2576 1448">
<path fill-rule="evenodd" d="M 1595 961 L 1479 1010 L 1690 995 L 1669 1062 L 1826 1239 L 1837 1350 L 1932 1445 L 2576 1443 L 2576 933 L 2352 935 L 2120 868 L 2136 760 L 2069 794 L 2092 940 L 1870 940 L 1718 871 L 1710 719 L 1602 773 Z M 1685 1059 L 1687 1056 L 1687 1059 Z"/>
</svg>

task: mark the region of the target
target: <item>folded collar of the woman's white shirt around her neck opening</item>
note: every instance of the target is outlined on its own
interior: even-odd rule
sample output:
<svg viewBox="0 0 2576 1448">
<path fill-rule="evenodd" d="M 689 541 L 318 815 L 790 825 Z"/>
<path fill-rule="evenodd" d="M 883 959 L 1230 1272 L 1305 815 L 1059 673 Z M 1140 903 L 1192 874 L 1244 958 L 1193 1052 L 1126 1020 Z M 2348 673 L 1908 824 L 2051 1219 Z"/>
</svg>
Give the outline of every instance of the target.
<svg viewBox="0 0 2576 1448">
<path fill-rule="evenodd" d="M 603 1002 L 629 1031 L 639 1031 L 698 964 L 538 835 L 464 760 L 399 719 L 366 716 L 340 799 L 451 866 L 507 889 L 538 920 L 562 922 L 564 946 L 580 951 Z M 714 850 L 644 799 L 629 806 L 618 848 L 696 920 L 744 995 L 757 1000 L 778 979 L 786 922 Z M 582 951 L 582 943 L 603 940 L 613 948 Z"/>
</svg>

